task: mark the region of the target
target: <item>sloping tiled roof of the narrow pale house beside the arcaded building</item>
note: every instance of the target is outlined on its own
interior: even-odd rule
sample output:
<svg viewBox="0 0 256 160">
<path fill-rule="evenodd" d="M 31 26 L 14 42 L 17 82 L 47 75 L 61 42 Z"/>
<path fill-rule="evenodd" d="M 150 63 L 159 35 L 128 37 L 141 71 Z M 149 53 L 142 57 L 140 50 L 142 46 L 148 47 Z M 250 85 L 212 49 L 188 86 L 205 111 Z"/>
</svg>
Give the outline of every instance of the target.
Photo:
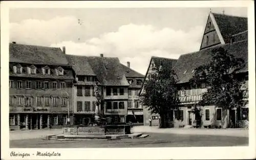
<svg viewBox="0 0 256 160">
<path fill-rule="evenodd" d="M 66 58 L 77 75 L 96 76 L 86 56 L 66 55 Z"/>
</svg>

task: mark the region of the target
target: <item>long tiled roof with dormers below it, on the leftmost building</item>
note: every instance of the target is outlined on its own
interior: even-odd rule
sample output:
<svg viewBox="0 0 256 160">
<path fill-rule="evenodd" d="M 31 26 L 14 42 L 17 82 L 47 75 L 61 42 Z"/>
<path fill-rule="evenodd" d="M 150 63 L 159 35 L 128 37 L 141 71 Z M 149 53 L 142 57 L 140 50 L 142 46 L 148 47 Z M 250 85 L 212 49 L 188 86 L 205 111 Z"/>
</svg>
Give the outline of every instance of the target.
<svg viewBox="0 0 256 160">
<path fill-rule="evenodd" d="M 68 65 L 60 48 L 9 43 L 9 62 Z"/>
</svg>

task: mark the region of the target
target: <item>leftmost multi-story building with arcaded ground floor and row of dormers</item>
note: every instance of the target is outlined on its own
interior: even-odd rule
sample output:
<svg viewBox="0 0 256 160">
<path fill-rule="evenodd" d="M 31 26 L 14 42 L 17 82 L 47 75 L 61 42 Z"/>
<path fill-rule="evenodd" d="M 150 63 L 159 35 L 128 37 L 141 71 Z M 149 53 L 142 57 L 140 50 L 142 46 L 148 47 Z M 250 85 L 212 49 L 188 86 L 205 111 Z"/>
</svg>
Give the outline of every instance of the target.
<svg viewBox="0 0 256 160">
<path fill-rule="evenodd" d="M 59 48 L 9 44 L 10 129 L 42 129 L 68 123 L 73 70 Z M 72 121 L 72 120 L 71 120 Z"/>
</svg>

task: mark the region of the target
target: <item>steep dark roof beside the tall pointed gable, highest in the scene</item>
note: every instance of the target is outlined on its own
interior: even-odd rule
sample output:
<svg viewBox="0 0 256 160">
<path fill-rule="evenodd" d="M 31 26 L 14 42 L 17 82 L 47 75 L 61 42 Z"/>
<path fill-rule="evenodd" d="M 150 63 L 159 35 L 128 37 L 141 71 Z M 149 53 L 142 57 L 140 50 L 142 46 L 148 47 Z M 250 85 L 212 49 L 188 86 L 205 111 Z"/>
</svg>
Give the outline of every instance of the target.
<svg viewBox="0 0 256 160">
<path fill-rule="evenodd" d="M 231 16 L 226 14 L 212 13 L 220 29 L 223 39 L 230 35 L 248 30 L 247 17 Z"/>
</svg>

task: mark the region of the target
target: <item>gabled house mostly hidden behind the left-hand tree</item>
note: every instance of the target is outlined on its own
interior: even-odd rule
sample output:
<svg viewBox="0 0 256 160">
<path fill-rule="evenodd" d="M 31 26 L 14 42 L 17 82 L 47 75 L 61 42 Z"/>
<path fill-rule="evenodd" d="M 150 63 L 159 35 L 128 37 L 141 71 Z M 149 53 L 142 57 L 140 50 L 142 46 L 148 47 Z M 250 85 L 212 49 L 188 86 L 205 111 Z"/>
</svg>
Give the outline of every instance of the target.
<svg viewBox="0 0 256 160">
<path fill-rule="evenodd" d="M 156 74 L 156 70 L 158 70 L 161 65 L 165 65 L 168 68 L 170 68 L 170 70 L 171 70 L 174 67 L 176 61 L 177 61 L 177 59 L 161 58 L 161 57 L 155 57 L 155 56 L 151 57 L 150 65 L 148 65 L 147 72 L 144 77 L 143 83 L 146 80 L 154 77 Z M 141 94 L 141 92 L 143 92 L 143 85 L 141 87 L 139 94 Z M 146 106 L 143 106 L 143 123 L 144 123 L 144 125 L 149 125 L 150 122 L 148 120 L 150 118 L 152 119 L 152 125 L 159 125 L 160 116 L 156 113 L 151 113 L 150 110 L 148 110 L 146 108 Z"/>
</svg>

